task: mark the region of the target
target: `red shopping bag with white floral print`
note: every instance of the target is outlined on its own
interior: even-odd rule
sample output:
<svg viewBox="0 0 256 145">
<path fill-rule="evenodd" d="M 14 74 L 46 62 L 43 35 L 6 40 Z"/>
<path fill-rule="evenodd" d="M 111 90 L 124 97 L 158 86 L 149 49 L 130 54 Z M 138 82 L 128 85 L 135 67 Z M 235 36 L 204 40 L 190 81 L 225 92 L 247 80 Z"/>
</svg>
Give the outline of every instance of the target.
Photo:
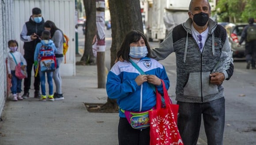
<svg viewBox="0 0 256 145">
<path fill-rule="evenodd" d="M 177 127 L 179 105 L 171 104 L 163 80 L 166 108 L 162 108 L 161 94 L 156 89 L 156 109 L 149 111 L 150 118 L 150 145 L 183 145 Z"/>
</svg>

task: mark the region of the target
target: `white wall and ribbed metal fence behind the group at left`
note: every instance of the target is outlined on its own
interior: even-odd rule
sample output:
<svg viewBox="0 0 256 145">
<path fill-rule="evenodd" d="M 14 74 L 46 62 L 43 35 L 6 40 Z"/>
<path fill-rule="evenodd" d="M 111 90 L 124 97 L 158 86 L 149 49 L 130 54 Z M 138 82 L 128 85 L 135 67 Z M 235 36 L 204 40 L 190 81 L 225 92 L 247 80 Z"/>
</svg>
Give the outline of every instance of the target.
<svg viewBox="0 0 256 145">
<path fill-rule="evenodd" d="M 55 22 L 69 38 L 67 63 L 61 65 L 62 76 L 75 75 L 75 0 L 1 0 L 0 1 L 0 116 L 8 97 L 6 58 L 8 40 L 17 40 L 23 51 L 20 33 L 32 15 L 32 8 L 40 7 L 46 20 Z"/>
</svg>

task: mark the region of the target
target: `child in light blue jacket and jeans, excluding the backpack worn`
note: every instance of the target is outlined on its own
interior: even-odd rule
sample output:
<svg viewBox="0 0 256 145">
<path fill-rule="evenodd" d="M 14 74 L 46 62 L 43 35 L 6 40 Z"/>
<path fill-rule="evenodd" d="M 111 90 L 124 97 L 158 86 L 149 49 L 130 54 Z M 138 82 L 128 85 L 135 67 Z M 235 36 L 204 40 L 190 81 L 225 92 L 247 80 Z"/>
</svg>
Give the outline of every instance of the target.
<svg viewBox="0 0 256 145">
<path fill-rule="evenodd" d="M 49 47 L 51 48 L 54 53 L 57 52 L 57 49 L 53 43 L 53 40 L 50 40 L 51 38 L 51 33 L 48 30 L 44 30 L 42 35 L 42 40 L 41 43 L 38 43 L 35 49 L 35 53 L 34 53 L 34 66 L 40 65 L 40 51 L 41 49 L 43 49 L 43 47 Z M 38 68 L 38 67 L 37 67 Z M 40 67 L 39 67 L 40 68 Z M 41 82 L 41 101 L 46 101 L 46 91 L 45 91 L 45 72 L 42 70 L 37 70 L 39 72 L 40 75 L 40 82 Z M 47 72 L 47 82 L 49 84 L 49 96 L 48 96 L 48 100 L 49 101 L 54 101 L 53 98 L 53 72 Z"/>
</svg>

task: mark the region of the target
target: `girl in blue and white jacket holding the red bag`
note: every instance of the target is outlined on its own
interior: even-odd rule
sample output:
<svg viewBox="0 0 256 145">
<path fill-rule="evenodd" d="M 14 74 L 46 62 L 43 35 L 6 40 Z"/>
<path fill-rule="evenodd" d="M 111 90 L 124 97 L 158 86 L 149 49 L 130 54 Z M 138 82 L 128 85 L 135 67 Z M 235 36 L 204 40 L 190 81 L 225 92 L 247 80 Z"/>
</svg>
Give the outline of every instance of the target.
<svg viewBox="0 0 256 145">
<path fill-rule="evenodd" d="M 149 127 L 135 129 L 124 112 L 144 112 L 154 108 L 156 94 L 151 85 L 163 94 L 161 80 L 164 80 L 168 90 L 169 79 L 163 65 L 151 58 L 147 39 L 139 31 L 131 31 L 126 35 L 117 52 L 117 58 L 121 56 L 124 62 L 119 61 L 113 65 L 106 82 L 108 97 L 117 99 L 120 108 L 119 145 L 149 145 Z M 147 75 L 141 74 L 134 63 Z"/>
</svg>

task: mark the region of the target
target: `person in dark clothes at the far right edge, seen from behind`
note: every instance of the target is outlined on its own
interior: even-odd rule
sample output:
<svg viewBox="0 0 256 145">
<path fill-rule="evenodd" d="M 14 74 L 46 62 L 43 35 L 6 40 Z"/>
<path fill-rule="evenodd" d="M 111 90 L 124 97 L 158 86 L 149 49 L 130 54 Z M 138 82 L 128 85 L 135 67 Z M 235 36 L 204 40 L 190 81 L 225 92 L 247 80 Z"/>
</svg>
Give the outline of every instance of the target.
<svg viewBox="0 0 256 145">
<path fill-rule="evenodd" d="M 256 25 L 253 25 L 254 18 L 249 18 L 249 25 L 245 26 L 241 34 L 241 39 L 237 46 L 240 46 L 241 43 L 245 40 L 245 59 L 247 62 L 246 69 L 255 68 L 256 62 Z"/>
</svg>

